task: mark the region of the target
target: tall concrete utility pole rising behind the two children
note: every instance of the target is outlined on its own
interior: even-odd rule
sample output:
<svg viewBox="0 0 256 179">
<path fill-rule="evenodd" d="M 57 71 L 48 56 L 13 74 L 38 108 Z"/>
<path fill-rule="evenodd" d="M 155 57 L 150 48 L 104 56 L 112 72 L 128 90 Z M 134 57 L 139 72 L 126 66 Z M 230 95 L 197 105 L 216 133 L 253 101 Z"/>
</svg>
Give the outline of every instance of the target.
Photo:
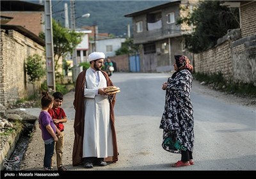
<svg viewBox="0 0 256 179">
<path fill-rule="evenodd" d="M 51 0 L 45 0 L 45 53 L 47 69 L 47 87 L 48 90 L 55 88 L 54 54 L 52 39 L 52 4 Z"/>
</svg>

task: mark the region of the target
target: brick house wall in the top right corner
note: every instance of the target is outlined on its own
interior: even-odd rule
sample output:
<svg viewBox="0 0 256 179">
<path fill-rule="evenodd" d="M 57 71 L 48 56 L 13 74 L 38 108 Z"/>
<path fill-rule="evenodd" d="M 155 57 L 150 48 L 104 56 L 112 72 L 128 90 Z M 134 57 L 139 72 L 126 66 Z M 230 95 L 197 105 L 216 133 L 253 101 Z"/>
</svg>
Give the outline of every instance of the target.
<svg viewBox="0 0 256 179">
<path fill-rule="evenodd" d="M 242 37 L 256 34 L 256 1 L 241 4 Z"/>
</svg>

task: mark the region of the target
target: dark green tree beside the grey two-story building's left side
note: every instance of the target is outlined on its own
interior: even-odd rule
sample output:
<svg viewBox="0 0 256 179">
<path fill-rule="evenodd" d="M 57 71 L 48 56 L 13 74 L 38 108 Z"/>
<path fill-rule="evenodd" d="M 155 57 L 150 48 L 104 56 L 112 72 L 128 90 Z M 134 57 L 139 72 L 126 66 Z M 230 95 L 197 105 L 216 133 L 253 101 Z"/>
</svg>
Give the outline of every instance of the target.
<svg viewBox="0 0 256 179">
<path fill-rule="evenodd" d="M 122 47 L 118 49 L 115 53 L 116 56 L 122 54 L 134 54 L 138 52 L 138 45 L 134 45 L 133 38 L 126 38 L 125 42 L 122 43 Z"/>
</svg>

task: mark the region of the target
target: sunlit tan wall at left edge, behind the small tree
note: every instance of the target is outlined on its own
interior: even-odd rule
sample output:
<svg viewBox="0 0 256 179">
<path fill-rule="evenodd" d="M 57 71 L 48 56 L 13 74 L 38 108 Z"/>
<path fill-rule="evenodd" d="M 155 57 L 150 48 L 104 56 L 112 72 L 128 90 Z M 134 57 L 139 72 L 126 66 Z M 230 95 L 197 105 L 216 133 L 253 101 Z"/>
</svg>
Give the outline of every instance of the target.
<svg viewBox="0 0 256 179">
<path fill-rule="evenodd" d="M 33 95 L 25 71 L 26 58 L 33 54 L 44 56 L 44 52 L 44 47 L 17 31 L 1 29 L 0 104 L 6 107 Z"/>
</svg>

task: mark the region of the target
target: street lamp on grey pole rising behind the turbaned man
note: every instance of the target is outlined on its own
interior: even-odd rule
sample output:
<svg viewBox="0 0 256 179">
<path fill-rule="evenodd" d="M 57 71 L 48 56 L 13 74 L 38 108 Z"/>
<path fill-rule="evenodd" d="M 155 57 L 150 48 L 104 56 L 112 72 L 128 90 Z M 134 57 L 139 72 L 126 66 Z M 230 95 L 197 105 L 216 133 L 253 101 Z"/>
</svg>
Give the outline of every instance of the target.
<svg viewBox="0 0 256 179">
<path fill-rule="evenodd" d="M 79 19 L 81 17 L 90 17 L 90 13 L 85 13 L 84 15 L 80 17 L 75 17 L 75 3 L 74 0 L 70 0 L 70 14 L 71 14 L 71 29 L 76 31 L 76 19 Z M 72 68 L 72 79 L 73 82 L 76 82 L 77 76 L 82 72 L 83 66 L 78 66 L 77 64 L 77 54 L 76 54 L 76 47 L 73 50 L 72 53 L 72 61 L 73 61 L 73 68 Z"/>
</svg>

